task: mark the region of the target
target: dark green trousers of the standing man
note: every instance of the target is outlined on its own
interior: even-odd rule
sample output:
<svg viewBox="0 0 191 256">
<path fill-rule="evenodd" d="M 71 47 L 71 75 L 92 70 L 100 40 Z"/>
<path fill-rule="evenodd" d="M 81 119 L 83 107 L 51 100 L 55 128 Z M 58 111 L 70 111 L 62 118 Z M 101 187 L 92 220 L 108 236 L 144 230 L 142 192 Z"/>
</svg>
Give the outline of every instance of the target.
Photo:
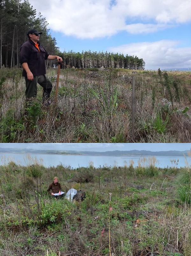
<svg viewBox="0 0 191 256">
<path fill-rule="evenodd" d="M 26 91 L 25 91 L 26 99 L 36 98 L 37 83 L 39 83 L 43 87 L 43 93 L 46 92 L 47 89 L 51 91 L 53 87 L 52 82 L 45 75 L 34 76 L 32 81 L 28 80 L 27 77 L 25 77 L 25 82 L 26 82 Z"/>
</svg>

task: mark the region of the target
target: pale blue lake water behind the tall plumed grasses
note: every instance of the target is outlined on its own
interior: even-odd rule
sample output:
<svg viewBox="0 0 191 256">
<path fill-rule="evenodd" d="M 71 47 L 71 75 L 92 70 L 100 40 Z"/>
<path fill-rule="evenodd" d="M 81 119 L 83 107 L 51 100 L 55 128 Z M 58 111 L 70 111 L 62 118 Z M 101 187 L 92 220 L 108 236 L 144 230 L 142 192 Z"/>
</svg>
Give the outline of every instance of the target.
<svg viewBox="0 0 191 256">
<path fill-rule="evenodd" d="M 44 165 L 45 167 L 49 166 L 57 166 L 62 164 L 63 166 L 71 166 L 71 168 L 77 167 L 87 167 L 89 166 L 89 162 L 92 161 L 94 163 L 94 167 L 102 167 L 104 166 L 124 166 L 125 161 L 126 165 L 129 165 L 129 161 L 131 159 L 134 162 L 134 167 L 138 166 L 138 160 L 140 157 L 126 157 L 126 156 L 81 156 L 81 155 L 43 155 L 43 154 L 0 154 L 0 165 L 8 164 L 10 161 L 14 161 L 18 165 L 32 165 L 35 163 L 36 160 Z M 143 158 L 143 157 L 142 157 Z M 146 157 L 148 159 L 148 157 Z M 166 157 L 160 156 L 156 157 L 159 161 L 156 164 L 157 167 L 167 168 L 172 167 L 171 160 L 175 160 L 178 165 L 178 168 L 186 166 L 185 164 L 185 157 Z M 189 161 L 188 161 L 189 162 Z"/>
</svg>

